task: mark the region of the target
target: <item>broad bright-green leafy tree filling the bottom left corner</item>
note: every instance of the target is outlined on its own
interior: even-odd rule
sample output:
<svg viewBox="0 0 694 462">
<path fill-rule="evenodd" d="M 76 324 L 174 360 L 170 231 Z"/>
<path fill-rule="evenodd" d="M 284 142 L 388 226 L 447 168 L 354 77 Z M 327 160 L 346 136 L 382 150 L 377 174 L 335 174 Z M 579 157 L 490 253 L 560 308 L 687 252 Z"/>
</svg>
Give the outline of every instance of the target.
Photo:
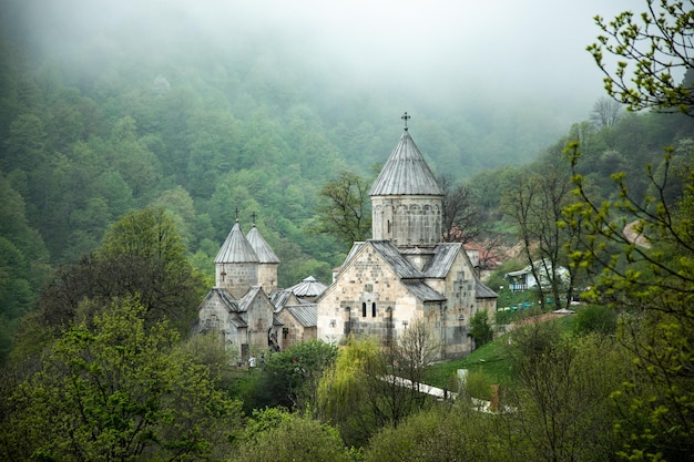
<svg viewBox="0 0 694 462">
<path fill-rule="evenodd" d="M 167 322 L 145 326 L 136 299 L 74 324 L 3 397 L 3 460 L 221 458 L 239 403 L 178 346 Z"/>
</svg>

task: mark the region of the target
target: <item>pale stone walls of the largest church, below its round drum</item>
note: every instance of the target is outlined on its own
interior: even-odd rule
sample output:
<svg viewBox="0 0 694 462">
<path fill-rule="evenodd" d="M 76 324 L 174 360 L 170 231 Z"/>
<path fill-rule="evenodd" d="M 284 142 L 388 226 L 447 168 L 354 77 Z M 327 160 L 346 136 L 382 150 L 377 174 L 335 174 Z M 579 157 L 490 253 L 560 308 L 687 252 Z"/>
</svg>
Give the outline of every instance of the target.
<svg viewBox="0 0 694 462">
<path fill-rule="evenodd" d="M 389 254 L 374 246 L 376 243 L 360 243 L 361 248 L 319 297 L 318 338 L 339 343 L 348 336 L 375 337 L 388 343 L 420 320 L 429 328 L 432 340 L 441 345 L 441 358 L 469 353 L 473 348 L 469 321 L 480 310 L 493 319 L 496 297 L 478 296 L 481 283 L 462 245 L 445 245 L 450 261 L 442 277 L 432 271 L 436 257 L 418 277 L 414 277 L 418 268 L 411 264 L 405 269 L 408 277 L 402 277 L 398 267 L 409 260 L 394 263 Z"/>
</svg>

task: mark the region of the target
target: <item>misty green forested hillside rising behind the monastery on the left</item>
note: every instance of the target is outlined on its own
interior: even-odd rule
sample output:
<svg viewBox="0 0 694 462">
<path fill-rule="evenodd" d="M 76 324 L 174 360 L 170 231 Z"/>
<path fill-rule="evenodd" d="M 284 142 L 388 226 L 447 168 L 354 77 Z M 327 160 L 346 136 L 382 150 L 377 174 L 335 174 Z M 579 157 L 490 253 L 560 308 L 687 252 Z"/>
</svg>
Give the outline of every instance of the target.
<svg viewBox="0 0 694 462">
<path fill-rule="evenodd" d="M 0 171 L 13 218 L 2 235 L 25 265 L 75 261 L 125 212 L 163 205 L 200 267 L 238 208 L 293 261 L 280 284 L 325 277 L 339 250 L 306 233 L 316 193 L 340 170 L 384 162 L 402 111 L 435 170 L 458 178 L 529 161 L 563 129 L 508 107 L 411 101 L 396 76 L 356 86 L 336 63 L 283 47 L 282 33 L 156 30 L 152 11 L 120 31 L 99 2 L 70 3 L 93 24 L 53 3 L 3 7 Z"/>
</svg>

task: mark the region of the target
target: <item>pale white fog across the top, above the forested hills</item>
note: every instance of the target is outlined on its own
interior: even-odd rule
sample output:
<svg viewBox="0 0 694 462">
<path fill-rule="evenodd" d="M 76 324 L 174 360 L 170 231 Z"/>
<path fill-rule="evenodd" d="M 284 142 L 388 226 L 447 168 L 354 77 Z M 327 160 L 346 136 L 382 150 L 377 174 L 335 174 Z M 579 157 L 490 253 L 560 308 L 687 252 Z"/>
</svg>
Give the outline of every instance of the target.
<svg viewBox="0 0 694 462">
<path fill-rule="evenodd" d="M 604 95 L 585 47 L 593 17 L 634 7 L 613 0 L 13 0 L 6 20 L 54 60 L 100 65 L 207 42 L 211 50 L 274 58 L 323 89 L 392 95 L 430 114 L 541 109 L 552 135 L 585 120 Z M 98 50 L 95 52 L 94 50 Z M 182 51 L 184 52 L 184 51 Z M 144 58 L 147 59 L 147 58 Z M 86 71 L 86 70 L 85 70 Z M 284 72 L 283 69 L 277 70 Z M 336 90 L 337 89 L 337 90 Z M 476 109 L 479 107 L 479 109 Z"/>
</svg>

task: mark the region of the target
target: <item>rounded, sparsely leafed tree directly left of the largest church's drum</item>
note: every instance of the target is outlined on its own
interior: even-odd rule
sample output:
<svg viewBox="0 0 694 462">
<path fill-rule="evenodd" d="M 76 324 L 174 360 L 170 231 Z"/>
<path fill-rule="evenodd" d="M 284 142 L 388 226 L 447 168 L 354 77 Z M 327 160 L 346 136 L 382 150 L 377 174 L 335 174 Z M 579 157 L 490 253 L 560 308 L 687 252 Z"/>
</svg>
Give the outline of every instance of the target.
<svg viewBox="0 0 694 462">
<path fill-rule="evenodd" d="M 368 238 L 371 233 L 368 192 L 368 183 L 348 171 L 326 182 L 318 193 L 320 203 L 316 207 L 315 230 L 330 234 L 346 247 Z"/>
</svg>

